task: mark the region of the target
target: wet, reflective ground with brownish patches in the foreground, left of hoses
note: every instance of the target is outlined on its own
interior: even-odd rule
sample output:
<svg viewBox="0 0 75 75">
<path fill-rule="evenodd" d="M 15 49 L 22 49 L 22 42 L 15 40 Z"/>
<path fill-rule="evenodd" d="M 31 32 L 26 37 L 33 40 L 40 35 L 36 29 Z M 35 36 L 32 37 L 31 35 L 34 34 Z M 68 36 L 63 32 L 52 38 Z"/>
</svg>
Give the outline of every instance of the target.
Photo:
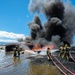
<svg viewBox="0 0 75 75">
<path fill-rule="evenodd" d="M 46 57 L 27 53 L 13 57 L 13 52 L 0 51 L 0 75 L 62 75 Z"/>
</svg>

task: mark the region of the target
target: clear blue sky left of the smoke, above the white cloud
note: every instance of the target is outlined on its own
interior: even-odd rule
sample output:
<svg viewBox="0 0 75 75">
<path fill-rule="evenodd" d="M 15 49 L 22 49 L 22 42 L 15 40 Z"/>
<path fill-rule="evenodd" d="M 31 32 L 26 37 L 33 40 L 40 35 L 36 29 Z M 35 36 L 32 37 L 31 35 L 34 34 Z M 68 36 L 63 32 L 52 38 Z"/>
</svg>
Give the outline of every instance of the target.
<svg viewBox="0 0 75 75">
<path fill-rule="evenodd" d="M 0 0 L 0 30 L 27 35 L 29 0 Z"/>
</svg>

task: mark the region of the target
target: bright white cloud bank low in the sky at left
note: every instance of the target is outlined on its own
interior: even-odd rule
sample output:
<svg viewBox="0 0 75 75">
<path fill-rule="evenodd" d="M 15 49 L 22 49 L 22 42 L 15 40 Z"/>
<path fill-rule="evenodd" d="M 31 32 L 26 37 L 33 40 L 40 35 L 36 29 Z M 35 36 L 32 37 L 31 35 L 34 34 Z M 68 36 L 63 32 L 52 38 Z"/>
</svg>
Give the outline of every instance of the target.
<svg viewBox="0 0 75 75">
<path fill-rule="evenodd" d="M 17 42 L 17 39 L 20 38 L 25 39 L 25 35 L 7 31 L 0 31 L 0 42 Z"/>
</svg>

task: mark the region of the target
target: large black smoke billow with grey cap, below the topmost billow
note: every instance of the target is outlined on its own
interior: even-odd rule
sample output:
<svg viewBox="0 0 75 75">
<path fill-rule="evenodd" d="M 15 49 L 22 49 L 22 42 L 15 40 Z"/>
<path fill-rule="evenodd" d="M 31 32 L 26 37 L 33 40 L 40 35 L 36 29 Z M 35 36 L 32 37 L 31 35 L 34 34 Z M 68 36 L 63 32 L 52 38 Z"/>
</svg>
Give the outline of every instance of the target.
<svg viewBox="0 0 75 75">
<path fill-rule="evenodd" d="M 51 41 L 51 37 L 53 35 L 59 35 L 61 39 L 65 36 L 66 29 L 62 25 L 62 21 L 58 18 L 51 18 L 50 21 L 48 21 L 45 24 L 46 29 L 46 39 Z"/>
</svg>

